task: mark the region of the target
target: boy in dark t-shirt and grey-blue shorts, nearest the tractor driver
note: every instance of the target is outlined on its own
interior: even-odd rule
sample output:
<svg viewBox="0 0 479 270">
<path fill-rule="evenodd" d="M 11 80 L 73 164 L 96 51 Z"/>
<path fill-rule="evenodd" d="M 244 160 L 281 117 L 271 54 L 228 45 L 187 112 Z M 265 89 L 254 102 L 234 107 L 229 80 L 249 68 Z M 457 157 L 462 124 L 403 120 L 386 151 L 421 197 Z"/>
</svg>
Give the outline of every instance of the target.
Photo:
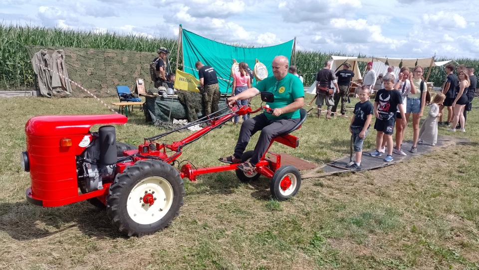
<svg viewBox="0 0 479 270">
<path fill-rule="evenodd" d="M 361 155 L 363 142 L 368 135 L 368 129 L 373 118 L 373 104 L 369 102 L 369 87 L 361 86 L 358 95 L 359 102 L 354 106 L 354 114 L 351 119 L 349 131 L 353 136 L 354 152 L 356 154 L 356 162 L 350 166 L 351 169 L 361 169 Z"/>
</svg>

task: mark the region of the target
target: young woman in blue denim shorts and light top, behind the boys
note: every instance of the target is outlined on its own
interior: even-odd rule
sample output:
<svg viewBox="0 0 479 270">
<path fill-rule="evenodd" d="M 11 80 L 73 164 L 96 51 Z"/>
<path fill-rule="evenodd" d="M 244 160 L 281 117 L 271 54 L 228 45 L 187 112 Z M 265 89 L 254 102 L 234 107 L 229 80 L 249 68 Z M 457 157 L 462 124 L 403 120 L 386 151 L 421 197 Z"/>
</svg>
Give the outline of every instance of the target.
<svg viewBox="0 0 479 270">
<path fill-rule="evenodd" d="M 426 82 L 423 83 L 423 92 L 421 93 L 421 76 L 423 72 L 424 68 L 419 65 L 413 69 L 412 81 L 414 86 L 416 86 L 416 94 L 409 93 L 406 102 L 406 121 L 409 122 L 409 116 L 413 113 L 413 146 L 409 150 L 411 153 L 418 151 L 419 121 L 423 117 L 423 110 L 426 105 L 426 92 L 428 90 Z"/>
</svg>

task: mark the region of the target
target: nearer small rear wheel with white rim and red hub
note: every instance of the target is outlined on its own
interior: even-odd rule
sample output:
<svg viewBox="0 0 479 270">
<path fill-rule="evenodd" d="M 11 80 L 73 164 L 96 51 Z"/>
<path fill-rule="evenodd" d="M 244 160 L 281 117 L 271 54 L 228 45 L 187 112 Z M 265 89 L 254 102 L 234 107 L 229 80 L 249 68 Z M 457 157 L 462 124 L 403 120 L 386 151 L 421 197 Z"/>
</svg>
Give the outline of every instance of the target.
<svg viewBox="0 0 479 270">
<path fill-rule="evenodd" d="M 280 187 L 280 184 L 283 178 L 286 176 L 290 177 L 293 183 L 289 189 L 283 191 Z M 278 201 L 286 201 L 298 193 L 300 186 L 301 174 L 299 173 L 298 169 L 292 165 L 285 165 L 279 167 L 279 169 L 274 172 L 269 184 L 269 189 L 274 199 Z"/>
</svg>

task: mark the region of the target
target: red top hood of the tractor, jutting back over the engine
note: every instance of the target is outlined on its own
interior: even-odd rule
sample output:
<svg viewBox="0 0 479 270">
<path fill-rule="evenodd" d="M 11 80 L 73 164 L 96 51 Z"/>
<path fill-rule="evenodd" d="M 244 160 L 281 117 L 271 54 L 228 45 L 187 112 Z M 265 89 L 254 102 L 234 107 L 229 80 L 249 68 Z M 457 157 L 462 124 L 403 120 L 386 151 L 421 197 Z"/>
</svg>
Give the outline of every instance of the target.
<svg viewBox="0 0 479 270">
<path fill-rule="evenodd" d="M 126 121 L 128 118 L 121 114 L 41 115 L 26 122 L 25 134 L 27 136 L 86 134 L 93 125 L 121 125 Z"/>
</svg>

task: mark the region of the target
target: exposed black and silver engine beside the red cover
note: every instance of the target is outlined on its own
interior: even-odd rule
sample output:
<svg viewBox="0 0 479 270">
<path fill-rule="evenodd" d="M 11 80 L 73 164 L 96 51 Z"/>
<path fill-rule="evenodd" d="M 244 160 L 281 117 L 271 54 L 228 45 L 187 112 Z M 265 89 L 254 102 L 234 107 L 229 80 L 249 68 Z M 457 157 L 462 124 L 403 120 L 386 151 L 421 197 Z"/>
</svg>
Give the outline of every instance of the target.
<svg viewBox="0 0 479 270">
<path fill-rule="evenodd" d="M 82 193 L 103 189 L 104 183 L 115 178 L 117 162 L 116 130 L 102 126 L 92 133 L 92 142 L 76 157 L 78 187 Z"/>
</svg>

